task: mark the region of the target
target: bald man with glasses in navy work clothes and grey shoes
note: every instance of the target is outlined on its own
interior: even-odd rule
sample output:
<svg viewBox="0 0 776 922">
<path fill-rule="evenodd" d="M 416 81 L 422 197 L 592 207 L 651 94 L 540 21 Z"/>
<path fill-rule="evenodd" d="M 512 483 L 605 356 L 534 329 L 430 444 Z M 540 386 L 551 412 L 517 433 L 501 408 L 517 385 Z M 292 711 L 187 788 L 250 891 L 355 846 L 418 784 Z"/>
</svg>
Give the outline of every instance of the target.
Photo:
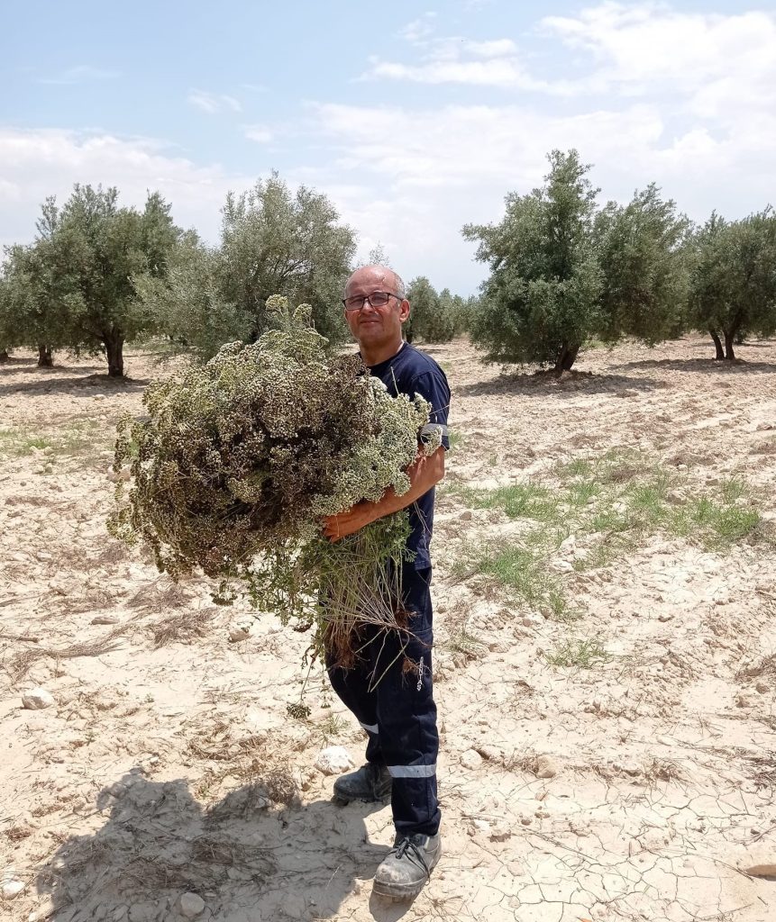
<svg viewBox="0 0 776 922">
<path fill-rule="evenodd" d="M 445 474 L 450 391 L 436 361 L 404 341 L 401 325 L 410 316 L 404 283 L 386 266 L 357 269 L 345 286 L 345 319 L 358 341 L 364 364 L 393 395 L 419 394 L 432 408 L 431 422 L 419 433 L 441 430 L 442 445 L 421 453 L 409 468 L 411 488 L 397 496 L 388 490 L 378 502 L 359 502 L 327 519 L 325 533 L 338 540 L 409 507 L 412 562 L 402 568 L 402 602 L 411 614 L 407 634 L 364 629 L 361 659 L 341 668 L 328 656 L 332 687 L 366 731 L 366 764 L 342 775 L 335 797 L 381 800 L 391 797 L 396 840 L 375 875 L 373 891 L 397 898 L 416 896 L 441 854 L 436 798 L 436 705 L 432 695 L 432 609 L 428 545 L 434 520 L 434 487 Z M 417 664 L 414 673 L 404 667 Z"/>
</svg>

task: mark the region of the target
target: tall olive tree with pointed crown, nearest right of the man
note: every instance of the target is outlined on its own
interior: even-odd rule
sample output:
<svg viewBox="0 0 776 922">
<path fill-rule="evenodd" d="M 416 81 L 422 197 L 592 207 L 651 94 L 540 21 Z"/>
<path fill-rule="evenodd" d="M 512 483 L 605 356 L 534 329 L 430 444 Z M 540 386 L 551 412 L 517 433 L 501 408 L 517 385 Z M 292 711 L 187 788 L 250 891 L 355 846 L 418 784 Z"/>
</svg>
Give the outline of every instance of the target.
<svg viewBox="0 0 776 922">
<path fill-rule="evenodd" d="M 554 150 L 542 188 L 507 195 L 497 225 L 467 225 L 477 259 L 491 275 L 472 324 L 486 361 L 570 368 L 586 339 L 602 326 L 603 279 L 593 245 L 597 190 L 579 154 Z"/>
</svg>

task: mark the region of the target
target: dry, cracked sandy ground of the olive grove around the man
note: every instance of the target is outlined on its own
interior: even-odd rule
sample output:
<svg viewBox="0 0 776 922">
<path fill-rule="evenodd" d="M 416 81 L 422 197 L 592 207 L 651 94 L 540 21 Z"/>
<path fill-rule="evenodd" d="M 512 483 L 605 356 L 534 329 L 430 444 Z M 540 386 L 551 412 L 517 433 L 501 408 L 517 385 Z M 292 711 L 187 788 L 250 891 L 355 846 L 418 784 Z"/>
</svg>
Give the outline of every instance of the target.
<svg viewBox="0 0 776 922">
<path fill-rule="evenodd" d="M 433 549 L 445 854 L 412 904 L 370 893 L 389 808 L 333 805 L 315 768 L 364 747 L 317 666 L 309 717 L 287 713 L 307 635 L 105 532 L 113 426 L 159 367 L 130 353 L 125 384 L 65 356 L 0 367 L 0 916 L 776 917 L 774 878 L 743 872 L 776 862 L 776 343 L 732 366 L 699 337 L 599 349 L 560 382 L 430 351 L 457 435 Z M 467 487 L 560 496 L 569 462 L 615 455 L 662 470 L 678 507 L 734 479 L 760 523 L 725 547 L 654 526 L 595 557 L 605 529 L 569 511 L 542 563 L 555 614 L 472 564 L 537 523 Z M 36 686 L 53 706 L 22 707 Z"/>
</svg>

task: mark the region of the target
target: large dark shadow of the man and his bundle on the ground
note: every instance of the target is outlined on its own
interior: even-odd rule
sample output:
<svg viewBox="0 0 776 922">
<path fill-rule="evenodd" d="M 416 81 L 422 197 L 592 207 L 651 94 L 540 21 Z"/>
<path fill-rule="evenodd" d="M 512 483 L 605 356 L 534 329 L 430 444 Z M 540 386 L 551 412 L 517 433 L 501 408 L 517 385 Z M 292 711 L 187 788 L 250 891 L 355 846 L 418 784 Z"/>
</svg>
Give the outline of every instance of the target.
<svg viewBox="0 0 776 922">
<path fill-rule="evenodd" d="M 277 777 L 257 781 L 203 809 L 185 779 L 152 781 L 135 768 L 101 790 L 97 810 L 108 819 L 63 842 L 37 888 L 51 894 L 56 922 L 177 922 L 186 892 L 204 901 L 203 922 L 331 918 L 387 854 L 364 824 L 381 809 L 303 806 L 285 774 L 280 786 Z M 393 904 L 370 902 L 379 922 L 408 907 L 397 915 Z"/>
</svg>

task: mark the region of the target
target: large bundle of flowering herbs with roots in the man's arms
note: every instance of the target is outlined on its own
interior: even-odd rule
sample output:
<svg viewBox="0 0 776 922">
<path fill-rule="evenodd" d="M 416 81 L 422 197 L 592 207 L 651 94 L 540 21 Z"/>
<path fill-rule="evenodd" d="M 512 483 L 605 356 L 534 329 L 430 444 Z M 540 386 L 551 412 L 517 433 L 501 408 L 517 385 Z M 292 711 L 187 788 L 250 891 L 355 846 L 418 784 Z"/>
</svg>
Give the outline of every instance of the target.
<svg viewBox="0 0 776 922">
<path fill-rule="evenodd" d="M 401 627 L 406 513 L 330 543 L 324 516 L 410 487 L 429 408 L 392 397 L 358 356 L 331 359 L 309 309 L 270 299 L 277 328 L 151 384 L 148 416 L 122 420 L 109 527 L 142 540 L 173 578 L 201 570 L 219 598 L 246 591 L 283 621 L 317 623 L 347 658 L 361 621 Z M 428 454 L 436 445 L 424 446 Z"/>
</svg>

